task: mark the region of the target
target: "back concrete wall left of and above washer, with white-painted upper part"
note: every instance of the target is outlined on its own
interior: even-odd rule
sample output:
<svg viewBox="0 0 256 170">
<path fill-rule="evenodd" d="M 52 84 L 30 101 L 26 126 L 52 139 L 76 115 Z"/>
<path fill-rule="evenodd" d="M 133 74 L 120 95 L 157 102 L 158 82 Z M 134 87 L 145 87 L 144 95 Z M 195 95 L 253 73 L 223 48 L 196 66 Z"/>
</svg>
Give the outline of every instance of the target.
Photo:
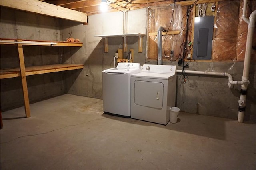
<svg viewBox="0 0 256 170">
<path fill-rule="evenodd" d="M 138 17 L 139 16 L 139 17 Z M 128 12 L 128 33 L 146 34 L 146 10 Z M 64 39 L 69 35 L 72 26 L 72 37 L 80 39 L 84 45 L 72 55 L 70 60 L 84 64 L 80 74 L 66 74 L 66 90 L 69 94 L 102 98 L 102 71 L 114 67 L 114 55 L 122 48 L 122 37 L 108 38 L 108 52 L 104 52 L 103 38 L 94 35 L 123 34 L 123 13 L 113 12 L 88 16 L 88 25 L 64 21 L 61 34 Z M 146 36 L 143 37 L 143 52 L 138 53 L 138 37 L 128 37 L 128 50 L 134 49 L 134 62 L 145 63 Z M 128 53 L 127 53 L 128 54 Z"/>
</svg>

